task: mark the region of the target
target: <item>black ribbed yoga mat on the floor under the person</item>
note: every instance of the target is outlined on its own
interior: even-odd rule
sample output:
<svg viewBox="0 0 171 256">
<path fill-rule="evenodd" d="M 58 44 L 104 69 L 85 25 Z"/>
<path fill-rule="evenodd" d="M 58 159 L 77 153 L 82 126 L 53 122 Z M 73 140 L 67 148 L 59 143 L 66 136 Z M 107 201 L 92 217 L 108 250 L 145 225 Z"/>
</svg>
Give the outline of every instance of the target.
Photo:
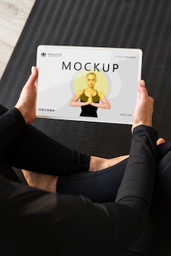
<svg viewBox="0 0 171 256">
<path fill-rule="evenodd" d="M 14 106 L 36 64 L 38 45 L 141 48 L 141 77 L 154 97 L 153 126 L 170 140 L 170 24 L 169 0 L 37 0 L 0 81 L 0 101 Z M 112 158 L 129 153 L 130 125 L 45 119 L 33 125 L 90 155 Z"/>
</svg>

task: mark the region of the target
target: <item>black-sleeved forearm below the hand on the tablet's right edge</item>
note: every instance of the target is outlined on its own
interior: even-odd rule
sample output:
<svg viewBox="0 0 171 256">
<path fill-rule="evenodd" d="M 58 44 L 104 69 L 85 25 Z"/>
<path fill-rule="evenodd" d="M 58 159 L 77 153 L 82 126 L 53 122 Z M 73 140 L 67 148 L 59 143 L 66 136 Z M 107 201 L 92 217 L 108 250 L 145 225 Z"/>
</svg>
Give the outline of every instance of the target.
<svg viewBox="0 0 171 256">
<path fill-rule="evenodd" d="M 150 210 L 156 176 L 157 132 L 148 126 L 137 126 L 132 134 L 132 146 L 126 172 L 116 201 L 138 212 L 142 221 Z M 144 209 L 144 211 L 142 211 Z"/>
</svg>

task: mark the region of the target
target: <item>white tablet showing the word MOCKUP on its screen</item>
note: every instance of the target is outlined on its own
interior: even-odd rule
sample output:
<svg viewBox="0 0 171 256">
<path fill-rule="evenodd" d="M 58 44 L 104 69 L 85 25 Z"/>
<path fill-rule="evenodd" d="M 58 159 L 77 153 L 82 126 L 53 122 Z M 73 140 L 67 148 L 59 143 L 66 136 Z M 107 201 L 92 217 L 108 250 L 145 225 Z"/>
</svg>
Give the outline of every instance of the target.
<svg viewBox="0 0 171 256">
<path fill-rule="evenodd" d="M 39 45 L 36 116 L 132 123 L 142 51 Z"/>
</svg>

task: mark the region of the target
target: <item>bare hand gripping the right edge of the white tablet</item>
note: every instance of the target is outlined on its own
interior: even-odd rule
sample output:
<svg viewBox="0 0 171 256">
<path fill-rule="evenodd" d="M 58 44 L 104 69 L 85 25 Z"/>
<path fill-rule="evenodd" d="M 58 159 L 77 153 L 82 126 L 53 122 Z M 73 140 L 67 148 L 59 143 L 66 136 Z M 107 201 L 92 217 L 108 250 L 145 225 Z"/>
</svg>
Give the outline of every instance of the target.
<svg viewBox="0 0 171 256">
<path fill-rule="evenodd" d="M 154 99 L 148 96 L 148 90 L 145 88 L 145 81 L 141 80 L 138 83 L 139 101 L 135 107 L 132 132 L 135 126 L 146 125 L 152 126 L 152 114 Z"/>
</svg>

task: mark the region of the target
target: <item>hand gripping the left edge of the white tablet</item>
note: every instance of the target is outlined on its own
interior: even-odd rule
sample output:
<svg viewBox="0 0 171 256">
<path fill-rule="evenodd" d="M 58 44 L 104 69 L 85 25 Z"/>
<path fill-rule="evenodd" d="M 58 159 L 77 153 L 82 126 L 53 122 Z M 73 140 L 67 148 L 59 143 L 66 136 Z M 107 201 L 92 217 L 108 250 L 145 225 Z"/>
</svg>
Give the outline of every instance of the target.
<svg viewBox="0 0 171 256">
<path fill-rule="evenodd" d="M 32 67 L 32 73 L 27 80 L 25 86 L 20 93 L 20 98 L 15 105 L 20 113 L 23 115 L 26 123 L 31 123 L 36 119 L 36 80 L 38 77 L 38 70 Z"/>
</svg>

